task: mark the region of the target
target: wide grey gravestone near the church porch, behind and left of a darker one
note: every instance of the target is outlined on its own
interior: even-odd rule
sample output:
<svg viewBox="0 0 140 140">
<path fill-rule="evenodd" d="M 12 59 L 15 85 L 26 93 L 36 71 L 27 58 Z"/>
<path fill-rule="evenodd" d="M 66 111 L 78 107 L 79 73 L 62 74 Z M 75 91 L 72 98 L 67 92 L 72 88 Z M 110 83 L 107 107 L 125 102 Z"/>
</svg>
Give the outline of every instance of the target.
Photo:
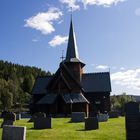
<svg viewBox="0 0 140 140">
<path fill-rule="evenodd" d="M 85 112 L 72 112 L 71 121 L 72 122 L 84 122 L 86 117 Z"/>
</svg>

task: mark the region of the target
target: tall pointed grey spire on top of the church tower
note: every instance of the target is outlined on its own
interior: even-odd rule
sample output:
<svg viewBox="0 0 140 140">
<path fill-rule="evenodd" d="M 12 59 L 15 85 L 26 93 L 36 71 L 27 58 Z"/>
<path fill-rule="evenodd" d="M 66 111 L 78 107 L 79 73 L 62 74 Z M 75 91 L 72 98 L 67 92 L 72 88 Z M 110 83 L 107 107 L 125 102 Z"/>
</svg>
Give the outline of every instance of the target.
<svg viewBox="0 0 140 140">
<path fill-rule="evenodd" d="M 72 17 L 71 17 L 66 60 L 70 61 L 72 58 L 79 59 L 79 54 L 78 54 L 75 32 L 74 32 Z"/>
</svg>

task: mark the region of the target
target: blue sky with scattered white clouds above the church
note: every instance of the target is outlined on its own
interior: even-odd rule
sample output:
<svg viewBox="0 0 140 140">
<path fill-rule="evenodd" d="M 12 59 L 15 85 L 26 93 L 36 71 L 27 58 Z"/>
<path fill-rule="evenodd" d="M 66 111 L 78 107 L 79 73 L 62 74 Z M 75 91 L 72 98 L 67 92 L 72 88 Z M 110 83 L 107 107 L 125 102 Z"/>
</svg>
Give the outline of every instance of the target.
<svg viewBox="0 0 140 140">
<path fill-rule="evenodd" d="M 140 95 L 140 0 L 0 0 L 0 60 L 55 73 L 71 9 L 84 71 L 110 71 L 112 95 Z"/>
</svg>

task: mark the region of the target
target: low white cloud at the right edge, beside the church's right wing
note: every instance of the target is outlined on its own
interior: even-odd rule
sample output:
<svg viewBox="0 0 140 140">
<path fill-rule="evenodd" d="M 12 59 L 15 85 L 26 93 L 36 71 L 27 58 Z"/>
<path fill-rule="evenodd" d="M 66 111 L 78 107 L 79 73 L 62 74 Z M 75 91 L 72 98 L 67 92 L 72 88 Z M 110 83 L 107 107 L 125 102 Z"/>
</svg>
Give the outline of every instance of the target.
<svg viewBox="0 0 140 140">
<path fill-rule="evenodd" d="M 140 68 L 113 73 L 111 74 L 111 80 L 117 85 L 140 90 Z"/>
</svg>

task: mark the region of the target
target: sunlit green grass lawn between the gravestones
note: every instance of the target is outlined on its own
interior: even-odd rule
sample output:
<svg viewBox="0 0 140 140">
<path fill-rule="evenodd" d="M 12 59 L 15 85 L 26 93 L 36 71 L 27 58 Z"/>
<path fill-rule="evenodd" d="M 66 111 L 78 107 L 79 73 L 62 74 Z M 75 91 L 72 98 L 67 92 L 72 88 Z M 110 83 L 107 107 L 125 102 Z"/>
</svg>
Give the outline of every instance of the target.
<svg viewBox="0 0 140 140">
<path fill-rule="evenodd" d="M 26 140 L 125 140 L 124 117 L 100 122 L 98 130 L 90 131 L 84 131 L 84 123 L 69 123 L 69 118 L 53 118 L 52 129 L 44 130 L 34 130 L 33 123 L 27 121 L 22 119 L 15 122 L 17 126 L 27 127 Z"/>
</svg>

